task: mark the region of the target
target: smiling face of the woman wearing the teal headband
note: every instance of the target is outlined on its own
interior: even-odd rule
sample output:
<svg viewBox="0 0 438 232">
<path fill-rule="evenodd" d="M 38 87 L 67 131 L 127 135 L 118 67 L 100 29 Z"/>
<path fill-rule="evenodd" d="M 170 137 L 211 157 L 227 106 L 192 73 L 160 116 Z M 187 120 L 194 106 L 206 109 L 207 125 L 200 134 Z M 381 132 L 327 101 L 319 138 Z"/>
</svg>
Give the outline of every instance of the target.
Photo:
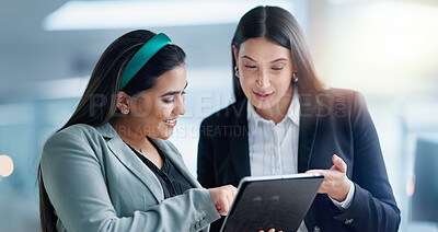
<svg viewBox="0 0 438 232">
<path fill-rule="evenodd" d="M 182 65 L 157 79 L 153 89 L 129 98 L 126 121 L 130 129 L 150 138 L 168 139 L 180 115 L 185 114 L 186 69 Z"/>
</svg>

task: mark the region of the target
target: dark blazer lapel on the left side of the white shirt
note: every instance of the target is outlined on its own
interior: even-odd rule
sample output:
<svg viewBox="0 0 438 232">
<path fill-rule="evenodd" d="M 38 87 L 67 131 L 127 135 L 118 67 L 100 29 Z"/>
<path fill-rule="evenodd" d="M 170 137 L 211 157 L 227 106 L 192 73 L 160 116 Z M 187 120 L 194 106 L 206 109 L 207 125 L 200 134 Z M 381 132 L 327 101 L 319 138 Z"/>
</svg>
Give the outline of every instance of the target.
<svg viewBox="0 0 438 232">
<path fill-rule="evenodd" d="M 251 175 L 250 152 L 247 141 L 247 119 L 246 119 L 246 101 L 240 101 L 233 104 L 228 112 L 231 116 L 228 139 L 230 144 L 230 155 L 233 163 L 238 183 L 244 176 Z"/>
</svg>

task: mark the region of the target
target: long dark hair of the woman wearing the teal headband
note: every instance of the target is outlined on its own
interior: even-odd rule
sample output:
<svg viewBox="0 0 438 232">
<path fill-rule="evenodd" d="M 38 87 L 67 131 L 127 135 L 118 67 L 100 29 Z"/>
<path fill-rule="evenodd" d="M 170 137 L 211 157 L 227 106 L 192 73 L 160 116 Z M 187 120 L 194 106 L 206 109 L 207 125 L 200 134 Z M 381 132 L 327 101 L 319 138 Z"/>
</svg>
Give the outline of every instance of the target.
<svg viewBox="0 0 438 232">
<path fill-rule="evenodd" d="M 129 32 L 113 42 L 97 61 L 73 115 L 59 130 L 76 124 L 100 126 L 116 117 L 117 113 L 119 113 L 116 103 L 122 71 L 141 46 L 154 35 L 150 31 L 138 30 Z M 185 53 L 183 49 L 176 45 L 166 45 L 140 69 L 122 91 L 134 96 L 139 92 L 152 89 L 158 77 L 183 65 L 184 60 Z M 44 187 L 41 163 L 37 179 L 39 185 L 42 231 L 57 231 L 56 222 L 58 218 Z"/>
</svg>

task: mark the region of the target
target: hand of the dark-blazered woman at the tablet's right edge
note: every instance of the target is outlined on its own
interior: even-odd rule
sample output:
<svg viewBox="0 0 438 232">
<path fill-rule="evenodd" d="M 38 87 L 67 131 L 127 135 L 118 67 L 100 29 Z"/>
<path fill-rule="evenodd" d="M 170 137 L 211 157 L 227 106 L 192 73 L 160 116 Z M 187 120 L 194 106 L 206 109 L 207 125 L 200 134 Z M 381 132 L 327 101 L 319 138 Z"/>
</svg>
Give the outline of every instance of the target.
<svg viewBox="0 0 438 232">
<path fill-rule="evenodd" d="M 347 164 L 336 154 L 332 156 L 333 166 L 330 170 L 309 170 L 307 173 L 320 173 L 325 177 L 319 194 L 327 194 L 336 201 L 344 201 L 347 198 L 349 187 L 353 184 L 346 173 Z"/>
</svg>

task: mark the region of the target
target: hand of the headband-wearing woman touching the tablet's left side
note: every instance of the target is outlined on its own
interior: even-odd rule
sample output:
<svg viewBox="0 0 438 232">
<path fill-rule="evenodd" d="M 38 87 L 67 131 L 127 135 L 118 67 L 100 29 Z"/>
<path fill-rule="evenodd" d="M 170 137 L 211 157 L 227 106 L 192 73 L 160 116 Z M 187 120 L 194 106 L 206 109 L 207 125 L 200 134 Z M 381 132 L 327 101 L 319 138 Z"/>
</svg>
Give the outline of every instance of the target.
<svg viewBox="0 0 438 232">
<path fill-rule="evenodd" d="M 210 194 L 219 214 L 227 216 L 231 208 L 231 204 L 238 194 L 238 188 L 232 185 L 224 185 L 216 188 L 208 188 L 207 190 Z"/>
</svg>

